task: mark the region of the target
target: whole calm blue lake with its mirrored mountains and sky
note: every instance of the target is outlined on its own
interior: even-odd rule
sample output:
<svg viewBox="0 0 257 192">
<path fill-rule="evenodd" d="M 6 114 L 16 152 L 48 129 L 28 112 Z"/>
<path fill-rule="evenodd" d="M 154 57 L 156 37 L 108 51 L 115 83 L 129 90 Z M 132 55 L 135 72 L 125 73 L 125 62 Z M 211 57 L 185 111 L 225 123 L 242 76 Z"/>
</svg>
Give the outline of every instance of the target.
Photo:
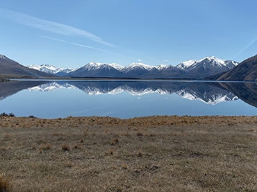
<svg viewBox="0 0 257 192">
<path fill-rule="evenodd" d="M 10 81 L 0 113 L 58 118 L 153 115 L 257 115 L 257 84 L 181 81 Z"/>
</svg>

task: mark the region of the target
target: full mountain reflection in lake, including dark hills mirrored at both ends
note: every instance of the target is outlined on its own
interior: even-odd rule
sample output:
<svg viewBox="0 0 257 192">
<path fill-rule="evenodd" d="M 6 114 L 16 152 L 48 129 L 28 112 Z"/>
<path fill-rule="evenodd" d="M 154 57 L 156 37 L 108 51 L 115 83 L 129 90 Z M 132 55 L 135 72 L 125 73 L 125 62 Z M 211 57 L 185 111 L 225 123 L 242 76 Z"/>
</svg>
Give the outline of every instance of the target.
<svg viewBox="0 0 257 192">
<path fill-rule="evenodd" d="M 222 101 L 242 101 L 257 107 L 257 84 L 249 82 L 178 82 L 178 81 L 10 81 L 0 83 L 0 99 L 28 89 L 54 91 L 81 89 L 86 94 L 119 94 L 124 91 L 133 96 L 144 94 L 178 94 L 190 100 L 208 104 Z"/>
</svg>

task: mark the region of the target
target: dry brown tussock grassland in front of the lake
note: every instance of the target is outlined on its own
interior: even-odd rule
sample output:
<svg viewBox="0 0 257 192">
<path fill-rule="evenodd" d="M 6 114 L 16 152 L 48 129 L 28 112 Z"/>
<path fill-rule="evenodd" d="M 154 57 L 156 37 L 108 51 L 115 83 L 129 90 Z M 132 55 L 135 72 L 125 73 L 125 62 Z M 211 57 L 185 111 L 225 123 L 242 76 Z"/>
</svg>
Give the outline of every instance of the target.
<svg viewBox="0 0 257 192">
<path fill-rule="evenodd" d="M 0 118 L 0 191 L 257 191 L 257 116 Z"/>
</svg>

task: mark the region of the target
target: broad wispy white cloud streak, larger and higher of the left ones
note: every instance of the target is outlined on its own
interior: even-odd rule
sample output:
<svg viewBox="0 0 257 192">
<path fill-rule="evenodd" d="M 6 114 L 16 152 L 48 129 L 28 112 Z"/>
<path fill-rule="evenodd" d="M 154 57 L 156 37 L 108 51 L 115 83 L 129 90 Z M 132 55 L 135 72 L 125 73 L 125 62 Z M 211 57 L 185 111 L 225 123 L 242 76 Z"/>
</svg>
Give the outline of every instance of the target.
<svg viewBox="0 0 257 192">
<path fill-rule="evenodd" d="M 88 38 L 94 42 L 99 44 L 104 44 L 111 47 L 117 47 L 114 44 L 110 44 L 94 35 L 86 30 L 82 30 L 79 28 L 75 28 L 73 26 L 68 26 L 65 24 L 60 24 L 54 21 L 49 21 L 45 19 L 40 19 L 38 17 L 33 17 L 31 15 L 26 15 L 21 12 L 15 12 L 13 10 L 6 10 L 0 8 L 0 17 L 3 19 L 7 19 L 8 21 L 16 22 L 17 24 L 22 24 L 24 26 L 28 26 L 31 28 L 37 28 L 40 30 L 45 30 L 51 33 L 57 33 L 60 35 L 67 35 L 67 36 L 81 36 Z"/>
</svg>

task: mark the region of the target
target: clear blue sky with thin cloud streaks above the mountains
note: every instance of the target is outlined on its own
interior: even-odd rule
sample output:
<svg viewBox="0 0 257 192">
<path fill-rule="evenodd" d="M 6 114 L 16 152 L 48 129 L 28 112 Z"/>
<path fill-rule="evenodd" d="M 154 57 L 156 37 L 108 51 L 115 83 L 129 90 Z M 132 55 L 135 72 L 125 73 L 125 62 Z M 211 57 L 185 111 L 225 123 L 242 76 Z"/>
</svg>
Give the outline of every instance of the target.
<svg viewBox="0 0 257 192">
<path fill-rule="evenodd" d="M 8 0 L 0 53 L 21 64 L 151 65 L 257 54 L 256 0 Z"/>
</svg>

